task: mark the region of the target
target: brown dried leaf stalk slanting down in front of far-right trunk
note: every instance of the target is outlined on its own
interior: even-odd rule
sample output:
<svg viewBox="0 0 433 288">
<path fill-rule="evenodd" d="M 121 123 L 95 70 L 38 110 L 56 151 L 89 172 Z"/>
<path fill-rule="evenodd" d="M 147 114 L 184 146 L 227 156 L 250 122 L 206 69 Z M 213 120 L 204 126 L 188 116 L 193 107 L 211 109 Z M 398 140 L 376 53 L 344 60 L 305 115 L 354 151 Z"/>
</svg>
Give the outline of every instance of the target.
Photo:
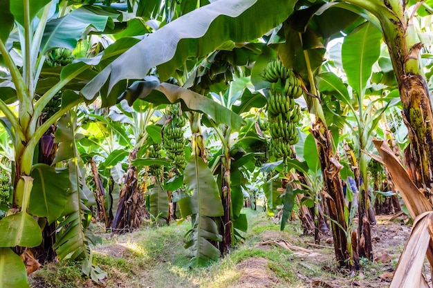
<svg viewBox="0 0 433 288">
<path fill-rule="evenodd" d="M 412 219 L 421 213 L 432 211 L 432 205 L 428 202 L 427 198 L 424 197 L 423 193 L 416 187 L 412 179 L 409 177 L 400 160 L 391 151 L 391 148 L 383 140 L 373 139 L 374 146 L 378 149 L 381 162 L 387 166 L 389 174 L 396 185 L 403 201 L 406 204 L 407 210 L 411 215 Z M 377 157 L 374 157 L 376 160 Z"/>
</svg>

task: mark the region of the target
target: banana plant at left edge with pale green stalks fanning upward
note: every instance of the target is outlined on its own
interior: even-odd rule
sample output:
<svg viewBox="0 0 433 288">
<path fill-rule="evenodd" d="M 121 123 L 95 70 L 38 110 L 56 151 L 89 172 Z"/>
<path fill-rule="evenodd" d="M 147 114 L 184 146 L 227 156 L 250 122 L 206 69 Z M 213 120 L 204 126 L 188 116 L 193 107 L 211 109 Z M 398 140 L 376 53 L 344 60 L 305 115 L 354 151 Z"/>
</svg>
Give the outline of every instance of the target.
<svg viewBox="0 0 433 288">
<path fill-rule="evenodd" d="M 89 81 L 95 75 L 90 72 L 89 66 L 82 62 L 48 68 L 44 65 L 46 57 L 50 57 L 48 54 L 52 53 L 50 51 L 53 48 L 75 48 L 86 28 L 92 25 L 95 30 L 102 31 L 107 27 L 107 23 L 113 23 L 111 17 L 120 17 L 120 14 L 113 10 L 107 14 L 107 10 L 101 6 L 77 6 L 68 14 L 57 13 L 57 1 L 36 1 L 31 5 L 26 1 L 5 1 L 3 4 L 0 53 L 1 65 L 7 68 L 8 75 L 2 77 L 3 97 L 0 100 L 0 110 L 5 115 L 2 122 L 11 131 L 10 136 L 15 148 L 15 189 L 12 206 L 19 212 L 8 213 L 8 216 L 1 220 L 0 225 L 16 229 L 7 233 L 0 246 L 35 247 L 41 241 L 41 233 L 39 225 L 29 213 L 39 217 L 47 216 L 48 221 L 53 222 L 62 212 L 59 213 L 59 209 L 51 209 L 53 206 L 38 201 L 46 195 L 47 191 L 39 186 L 46 177 L 35 178 L 35 173 L 48 172 L 47 169 L 33 168 L 35 148 L 59 117 L 83 101 L 74 90 L 82 85 L 81 81 Z M 67 1 L 62 1 L 62 5 L 68 6 Z M 55 57 L 59 59 L 63 56 Z M 62 93 L 59 110 L 40 124 L 39 116 L 50 100 L 59 93 Z M 8 105 L 15 101 L 18 102 L 17 114 L 12 110 L 12 106 Z M 62 193 L 66 191 L 63 190 Z M 62 202 L 57 205 L 64 208 L 67 199 L 59 199 L 62 199 Z M 2 260 L 8 261 L 14 257 L 13 253 L 6 252 L 8 249 L 2 249 L 2 257 L 7 256 Z M 4 279 L 2 275 L 1 283 Z"/>
</svg>

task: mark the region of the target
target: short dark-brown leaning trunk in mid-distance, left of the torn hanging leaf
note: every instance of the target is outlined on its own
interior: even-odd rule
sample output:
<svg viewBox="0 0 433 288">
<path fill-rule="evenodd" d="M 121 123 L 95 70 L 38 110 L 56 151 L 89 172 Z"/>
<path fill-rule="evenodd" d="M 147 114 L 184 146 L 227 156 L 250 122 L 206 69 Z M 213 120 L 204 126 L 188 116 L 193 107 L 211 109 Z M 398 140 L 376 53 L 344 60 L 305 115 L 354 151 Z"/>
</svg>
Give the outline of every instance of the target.
<svg viewBox="0 0 433 288">
<path fill-rule="evenodd" d="M 129 167 L 125 176 L 125 184 L 120 190 L 118 209 L 111 225 L 112 233 L 126 233 L 140 227 L 142 218 L 142 195 L 138 189 L 137 169 L 132 160 L 137 157 L 137 149 L 129 153 Z"/>
</svg>

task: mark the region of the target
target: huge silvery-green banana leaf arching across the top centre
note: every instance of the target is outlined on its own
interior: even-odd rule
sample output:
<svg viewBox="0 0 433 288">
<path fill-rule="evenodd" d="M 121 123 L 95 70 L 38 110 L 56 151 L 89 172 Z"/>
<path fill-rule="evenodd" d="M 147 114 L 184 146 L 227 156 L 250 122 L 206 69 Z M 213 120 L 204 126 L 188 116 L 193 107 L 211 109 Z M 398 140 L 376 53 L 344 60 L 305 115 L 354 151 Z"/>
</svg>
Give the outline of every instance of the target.
<svg viewBox="0 0 433 288">
<path fill-rule="evenodd" d="M 207 55 L 227 41 L 250 41 L 284 21 L 296 1 L 220 0 L 194 10 L 151 33 L 113 61 L 82 89 L 86 99 L 107 95 L 122 79 L 142 79 L 158 66 L 164 81 L 189 58 Z M 108 83 L 107 83 L 108 81 Z"/>
</svg>

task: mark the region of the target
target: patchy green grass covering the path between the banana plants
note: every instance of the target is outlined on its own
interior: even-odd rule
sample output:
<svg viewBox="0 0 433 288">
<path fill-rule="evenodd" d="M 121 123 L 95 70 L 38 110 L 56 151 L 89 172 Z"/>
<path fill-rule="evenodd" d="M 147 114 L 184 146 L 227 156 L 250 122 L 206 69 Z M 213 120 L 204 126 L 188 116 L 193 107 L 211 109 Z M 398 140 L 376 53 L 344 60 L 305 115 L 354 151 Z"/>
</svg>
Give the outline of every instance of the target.
<svg viewBox="0 0 433 288">
<path fill-rule="evenodd" d="M 315 249 L 314 257 L 299 256 L 296 251 L 273 244 L 264 245 L 282 239 L 311 249 L 307 242 L 313 242 L 313 237 L 302 236 L 299 222 L 289 222 L 285 231 L 279 231 L 279 224 L 266 213 L 250 209 L 244 212 L 249 229 L 243 243 L 207 267 L 190 267 L 190 251 L 183 248 L 183 236 L 190 229 L 190 222 L 169 227 L 147 224 L 133 233 L 104 235 L 102 244 L 94 249 L 95 263 L 107 271 L 106 287 L 303 288 L 310 287 L 308 282 L 314 279 L 343 279 L 337 284 L 350 287 L 350 281 L 362 278 L 362 273 L 350 278 L 336 269 L 331 245 Z M 363 275 L 377 274 L 381 267 L 378 263 L 367 264 Z M 30 278 L 33 288 L 99 287 L 82 275 L 80 263 L 71 261 L 48 264 Z"/>
</svg>

